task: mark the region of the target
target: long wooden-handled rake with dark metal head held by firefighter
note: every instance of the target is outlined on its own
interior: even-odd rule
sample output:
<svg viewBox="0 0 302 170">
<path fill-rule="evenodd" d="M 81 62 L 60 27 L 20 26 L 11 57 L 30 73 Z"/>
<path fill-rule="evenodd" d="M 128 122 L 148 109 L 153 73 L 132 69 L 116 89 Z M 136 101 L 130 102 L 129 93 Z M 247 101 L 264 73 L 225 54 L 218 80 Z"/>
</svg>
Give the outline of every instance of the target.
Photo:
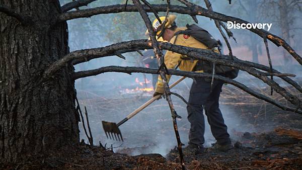
<svg viewBox="0 0 302 170">
<path fill-rule="evenodd" d="M 185 78 L 186 77 L 181 77 L 180 79 L 178 79 L 177 81 L 175 81 L 173 84 L 171 84 L 170 89 L 173 88 L 174 86 L 176 86 L 176 84 L 178 84 L 180 81 L 182 81 Z M 115 139 L 115 140 L 119 140 L 119 141 L 120 140 L 124 141 L 122 133 L 121 133 L 121 131 L 120 131 L 120 129 L 118 127 L 120 125 L 122 125 L 123 123 L 125 123 L 127 120 L 131 119 L 137 113 L 139 113 L 140 111 L 142 111 L 144 108 L 146 108 L 147 106 L 149 106 L 150 104 L 152 104 L 155 100 L 159 99 L 161 96 L 162 95 L 157 95 L 157 96 L 151 98 L 146 103 L 144 103 L 139 108 L 137 108 L 132 113 L 130 113 L 125 119 L 123 119 L 122 121 L 120 121 L 118 123 L 102 121 L 103 129 L 105 131 L 105 134 L 106 134 L 107 138 L 110 138 L 111 140 Z"/>
</svg>

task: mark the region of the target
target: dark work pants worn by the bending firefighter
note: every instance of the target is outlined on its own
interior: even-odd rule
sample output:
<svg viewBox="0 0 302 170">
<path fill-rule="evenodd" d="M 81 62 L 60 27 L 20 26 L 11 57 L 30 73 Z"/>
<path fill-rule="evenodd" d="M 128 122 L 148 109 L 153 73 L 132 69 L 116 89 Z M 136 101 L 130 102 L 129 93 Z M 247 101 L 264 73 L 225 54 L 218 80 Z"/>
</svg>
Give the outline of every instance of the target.
<svg viewBox="0 0 302 170">
<path fill-rule="evenodd" d="M 196 78 L 196 82 L 193 81 L 187 106 L 188 120 L 191 123 L 189 144 L 202 146 L 204 143 L 203 107 L 217 143 L 219 145 L 231 143 L 228 127 L 224 124 L 218 103 L 222 85 L 222 81 L 214 80 L 210 92 L 211 82 L 205 81 L 204 78 Z"/>
</svg>

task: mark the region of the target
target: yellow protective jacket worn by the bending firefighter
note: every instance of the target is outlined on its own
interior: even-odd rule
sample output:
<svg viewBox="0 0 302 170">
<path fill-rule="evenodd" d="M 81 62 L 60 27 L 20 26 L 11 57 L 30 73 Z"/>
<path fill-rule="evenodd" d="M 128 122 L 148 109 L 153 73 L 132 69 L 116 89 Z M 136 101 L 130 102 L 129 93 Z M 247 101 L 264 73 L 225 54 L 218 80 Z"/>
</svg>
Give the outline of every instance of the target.
<svg viewBox="0 0 302 170">
<path fill-rule="evenodd" d="M 180 27 L 175 30 L 175 33 L 178 31 L 186 30 L 186 27 Z M 177 37 L 177 38 L 176 38 Z M 188 35 L 177 35 L 172 37 L 170 40 L 170 43 L 175 45 L 182 45 L 186 47 L 193 47 L 193 48 L 202 48 L 202 49 L 209 49 L 207 46 L 205 46 L 203 43 L 199 42 L 192 36 Z M 214 50 L 215 52 L 218 52 L 218 50 Z M 179 69 L 183 71 L 192 71 L 195 65 L 197 64 L 198 60 L 190 60 L 190 59 L 184 59 L 188 58 L 186 55 L 182 55 L 176 52 L 167 51 L 165 55 L 165 64 L 168 69 L 175 69 L 175 67 L 179 64 Z M 203 70 L 198 70 L 196 72 L 203 72 Z M 171 75 L 167 76 L 167 82 L 169 82 Z M 157 86 L 155 92 L 157 93 L 164 93 L 164 86 L 161 76 L 159 75 Z"/>
</svg>

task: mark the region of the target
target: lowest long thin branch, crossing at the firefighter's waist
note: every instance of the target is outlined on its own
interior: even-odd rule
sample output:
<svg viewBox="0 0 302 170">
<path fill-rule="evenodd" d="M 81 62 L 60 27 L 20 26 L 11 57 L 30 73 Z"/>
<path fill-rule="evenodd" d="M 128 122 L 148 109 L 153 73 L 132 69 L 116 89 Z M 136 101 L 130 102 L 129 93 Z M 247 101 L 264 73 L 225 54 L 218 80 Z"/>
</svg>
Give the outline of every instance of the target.
<svg viewBox="0 0 302 170">
<path fill-rule="evenodd" d="M 169 69 L 168 70 L 170 74 L 173 75 L 180 75 L 180 76 L 187 76 L 187 77 L 203 77 L 203 78 L 211 78 L 212 75 L 209 73 L 202 73 L 202 72 L 191 72 L 191 71 L 180 71 L 180 70 L 175 70 L 175 69 Z M 144 68 L 144 67 L 121 67 L 121 66 L 106 66 L 106 67 L 101 67 L 98 69 L 93 69 L 93 70 L 86 70 L 86 71 L 78 71 L 73 73 L 72 77 L 73 79 L 78 79 L 82 77 L 87 77 L 87 76 L 92 76 L 92 75 L 98 75 L 101 73 L 105 72 L 125 72 L 128 74 L 131 74 L 133 72 L 141 72 L 141 73 L 150 73 L 150 74 L 158 74 L 157 69 L 155 68 Z M 225 78 L 219 75 L 214 75 L 215 79 L 222 80 L 226 83 L 232 84 L 236 86 L 237 88 L 247 92 L 248 94 L 255 96 L 258 99 L 264 100 L 268 103 L 271 103 L 285 111 L 291 111 L 295 112 L 296 108 L 288 107 L 286 105 L 283 105 L 280 102 L 275 101 L 274 99 L 271 99 L 265 95 L 262 95 L 258 92 L 255 92 L 254 90 L 251 90 L 250 88 L 246 87 L 244 84 L 229 79 Z M 296 113 L 302 114 L 301 110 L 297 110 Z"/>
</svg>

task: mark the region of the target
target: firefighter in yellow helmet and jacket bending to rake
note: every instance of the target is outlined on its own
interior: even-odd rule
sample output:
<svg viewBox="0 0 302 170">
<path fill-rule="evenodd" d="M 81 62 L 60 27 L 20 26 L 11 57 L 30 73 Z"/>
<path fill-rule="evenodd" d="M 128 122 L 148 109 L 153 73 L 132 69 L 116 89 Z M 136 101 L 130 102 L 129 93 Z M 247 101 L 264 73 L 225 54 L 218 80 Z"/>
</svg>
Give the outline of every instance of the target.
<svg viewBox="0 0 302 170">
<path fill-rule="evenodd" d="M 166 17 L 160 17 L 162 23 Z M 168 21 L 163 27 L 160 22 L 155 19 L 153 28 L 157 37 L 163 37 L 164 40 L 176 44 L 193 48 L 209 49 L 206 45 L 196 40 L 190 35 L 177 34 L 179 31 L 186 30 L 186 27 L 177 27 L 175 23 L 176 16 L 170 15 Z M 217 48 L 209 49 L 219 52 Z M 165 55 L 165 64 L 168 69 L 176 69 L 178 66 L 180 70 L 203 72 L 202 62 L 200 60 L 191 60 L 187 56 L 178 54 L 172 51 L 167 51 Z M 169 82 L 171 75 L 166 75 Z M 219 110 L 219 95 L 221 92 L 223 82 L 214 80 L 212 87 L 211 82 L 205 78 L 196 78 L 192 83 L 189 95 L 189 105 L 187 106 L 188 120 L 191 124 L 189 132 L 188 146 L 184 148 L 184 152 L 202 153 L 204 151 L 204 116 L 207 116 L 211 132 L 216 139 L 213 148 L 219 151 L 228 151 L 233 148 L 231 144 L 230 135 L 227 131 L 228 127 L 224 124 L 222 114 Z M 211 89 L 212 88 L 212 89 Z M 211 89 L 211 90 L 210 90 Z M 161 76 L 158 77 L 157 86 L 153 96 L 164 93 L 163 82 Z"/>
</svg>

